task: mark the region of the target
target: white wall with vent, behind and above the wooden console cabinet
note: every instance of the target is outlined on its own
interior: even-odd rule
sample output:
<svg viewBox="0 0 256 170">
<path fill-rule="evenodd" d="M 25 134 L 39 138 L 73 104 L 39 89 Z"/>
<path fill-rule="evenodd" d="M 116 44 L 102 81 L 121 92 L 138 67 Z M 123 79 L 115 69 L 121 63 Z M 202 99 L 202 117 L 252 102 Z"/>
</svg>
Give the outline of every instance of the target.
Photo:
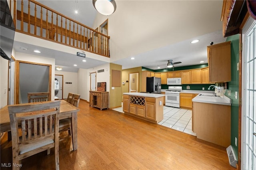
<svg viewBox="0 0 256 170">
<path fill-rule="evenodd" d="M 104 69 L 104 72 L 102 73 L 97 73 L 98 70 L 101 70 L 101 69 Z M 87 90 L 86 90 L 86 100 L 87 101 L 90 101 L 90 96 L 89 96 L 89 91 L 90 91 L 90 76 L 89 76 L 89 73 L 92 73 L 92 72 L 96 72 L 96 83 L 98 82 L 106 82 L 106 91 L 110 91 L 110 64 L 107 63 L 107 64 L 104 64 L 104 65 L 100 65 L 98 67 L 93 67 L 91 69 L 87 69 Z M 97 86 L 97 84 L 96 84 Z M 96 87 L 97 89 L 97 87 Z"/>
</svg>

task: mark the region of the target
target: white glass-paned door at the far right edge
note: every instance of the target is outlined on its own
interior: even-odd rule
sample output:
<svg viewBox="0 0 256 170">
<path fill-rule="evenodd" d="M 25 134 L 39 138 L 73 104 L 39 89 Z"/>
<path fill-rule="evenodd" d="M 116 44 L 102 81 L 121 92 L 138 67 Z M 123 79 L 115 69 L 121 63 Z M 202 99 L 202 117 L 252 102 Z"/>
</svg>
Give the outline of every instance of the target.
<svg viewBox="0 0 256 170">
<path fill-rule="evenodd" d="M 256 21 L 243 29 L 241 169 L 256 169 Z"/>
</svg>

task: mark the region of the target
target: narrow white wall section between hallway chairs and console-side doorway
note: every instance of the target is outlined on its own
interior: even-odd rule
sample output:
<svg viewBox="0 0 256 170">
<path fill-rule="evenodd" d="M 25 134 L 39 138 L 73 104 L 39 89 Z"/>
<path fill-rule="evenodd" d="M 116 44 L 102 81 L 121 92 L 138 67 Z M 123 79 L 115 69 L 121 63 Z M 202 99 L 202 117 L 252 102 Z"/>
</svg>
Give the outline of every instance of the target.
<svg viewBox="0 0 256 170">
<path fill-rule="evenodd" d="M 79 69 L 78 70 L 78 94 L 80 94 L 80 99 L 87 100 L 89 96 L 89 91 L 87 90 L 87 82 L 90 81 L 88 78 L 88 70 L 87 69 Z M 90 88 L 90 87 L 89 87 Z M 87 100 L 89 102 L 89 100 Z"/>
</svg>

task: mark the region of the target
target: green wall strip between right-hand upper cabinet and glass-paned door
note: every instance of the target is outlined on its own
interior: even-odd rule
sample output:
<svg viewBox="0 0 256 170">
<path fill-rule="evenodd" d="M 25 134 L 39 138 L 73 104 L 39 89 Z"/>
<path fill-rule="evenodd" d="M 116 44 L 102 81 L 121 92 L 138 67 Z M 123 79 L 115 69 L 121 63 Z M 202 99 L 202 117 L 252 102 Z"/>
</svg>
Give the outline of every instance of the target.
<svg viewBox="0 0 256 170">
<path fill-rule="evenodd" d="M 232 100 L 231 103 L 231 145 L 238 158 L 238 143 L 235 144 L 235 138 L 238 141 L 238 114 L 239 114 L 239 96 L 235 98 L 235 92 L 239 91 L 239 71 L 237 63 L 239 62 L 239 34 L 229 36 L 226 41 L 231 41 L 231 81 L 227 83 L 228 90 L 231 91 L 231 96 L 228 93 L 225 95 Z M 239 93 L 238 93 L 239 94 Z"/>
</svg>

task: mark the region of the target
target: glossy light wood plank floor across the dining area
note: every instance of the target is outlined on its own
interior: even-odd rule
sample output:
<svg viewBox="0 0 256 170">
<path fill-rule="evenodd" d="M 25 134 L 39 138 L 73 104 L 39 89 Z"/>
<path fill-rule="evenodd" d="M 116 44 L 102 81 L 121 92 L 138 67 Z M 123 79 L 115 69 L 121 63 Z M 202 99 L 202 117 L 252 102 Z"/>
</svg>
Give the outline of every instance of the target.
<svg viewBox="0 0 256 170">
<path fill-rule="evenodd" d="M 80 101 L 79 108 L 78 150 L 70 151 L 71 140 L 60 142 L 61 170 L 235 170 L 222 146 L 111 109 L 90 108 L 85 101 Z M 11 150 L 12 143 L 5 135 L 1 164 L 12 162 Z M 21 163 L 24 170 L 52 170 L 53 150 L 50 155 L 41 152 Z"/>
</svg>

